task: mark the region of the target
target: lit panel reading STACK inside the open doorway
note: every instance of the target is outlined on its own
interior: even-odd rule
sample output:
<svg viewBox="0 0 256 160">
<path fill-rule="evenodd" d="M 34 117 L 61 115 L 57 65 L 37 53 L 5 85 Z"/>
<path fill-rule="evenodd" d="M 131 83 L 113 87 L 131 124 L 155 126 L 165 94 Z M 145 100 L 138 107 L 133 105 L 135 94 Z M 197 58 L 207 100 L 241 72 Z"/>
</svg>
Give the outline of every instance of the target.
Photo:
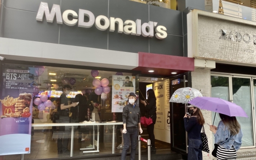
<svg viewBox="0 0 256 160">
<path fill-rule="evenodd" d="M 165 116 L 164 116 L 164 81 L 154 83 L 154 93 L 156 97 L 156 123 L 154 128 L 165 129 Z M 161 134 L 160 134 L 161 136 Z"/>
</svg>

